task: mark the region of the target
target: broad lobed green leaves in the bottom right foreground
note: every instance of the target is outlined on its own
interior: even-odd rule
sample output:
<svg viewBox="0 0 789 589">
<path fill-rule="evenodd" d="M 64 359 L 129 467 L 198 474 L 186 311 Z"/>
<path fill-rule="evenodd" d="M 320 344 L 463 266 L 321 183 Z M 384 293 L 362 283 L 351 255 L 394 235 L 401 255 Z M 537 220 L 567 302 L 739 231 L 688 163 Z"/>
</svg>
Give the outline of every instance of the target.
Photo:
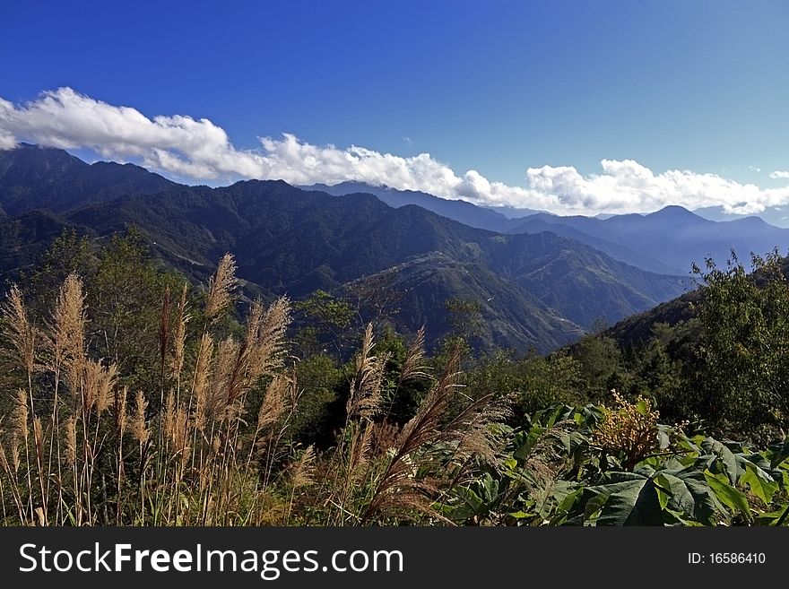
<svg viewBox="0 0 789 589">
<path fill-rule="evenodd" d="M 785 443 L 756 450 L 655 423 L 655 452 L 626 470 L 595 445 L 606 411 L 557 406 L 507 429 L 499 469 L 456 489 L 444 513 L 463 524 L 786 523 Z"/>
</svg>

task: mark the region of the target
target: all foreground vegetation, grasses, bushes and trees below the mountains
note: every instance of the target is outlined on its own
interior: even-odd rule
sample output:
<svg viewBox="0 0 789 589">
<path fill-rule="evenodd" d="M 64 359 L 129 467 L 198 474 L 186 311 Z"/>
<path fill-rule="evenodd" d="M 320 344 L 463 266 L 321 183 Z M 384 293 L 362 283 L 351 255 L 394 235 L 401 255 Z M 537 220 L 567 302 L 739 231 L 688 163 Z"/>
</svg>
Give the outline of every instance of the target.
<svg viewBox="0 0 789 589">
<path fill-rule="evenodd" d="M 626 350 L 475 354 L 455 299 L 428 353 L 386 305 L 236 299 L 229 254 L 192 283 L 138 232 L 66 233 L 4 299 L 2 521 L 786 524 L 789 288 L 754 264 L 698 269 L 690 319 Z"/>
</svg>

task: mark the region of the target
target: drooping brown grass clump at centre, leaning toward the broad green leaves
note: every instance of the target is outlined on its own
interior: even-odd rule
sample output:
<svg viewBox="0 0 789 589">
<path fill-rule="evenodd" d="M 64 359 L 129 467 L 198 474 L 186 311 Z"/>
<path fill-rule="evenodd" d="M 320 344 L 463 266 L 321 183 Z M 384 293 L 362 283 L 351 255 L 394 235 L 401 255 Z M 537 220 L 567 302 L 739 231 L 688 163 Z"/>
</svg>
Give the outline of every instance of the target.
<svg viewBox="0 0 789 589">
<path fill-rule="evenodd" d="M 427 378 L 421 368 L 422 337 L 418 334 L 408 352 L 400 377 L 386 379 L 386 358 L 372 354 L 368 326 L 351 379 L 346 426 L 334 455 L 318 467 L 323 481 L 308 489 L 320 506 L 313 510 L 318 523 L 422 522 L 427 517 L 447 524 L 437 502 L 471 476 L 476 464 L 494 458 L 498 440 L 490 423 L 506 409 L 492 396 L 476 401 L 458 396 L 459 351 L 450 356 L 412 420 L 401 428 L 382 415 L 382 398 L 409 378 Z M 396 383 L 395 390 L 385 390 L 386 382 Z M 461 408 L 453 412 L 458 402 Z"/>
</svg>

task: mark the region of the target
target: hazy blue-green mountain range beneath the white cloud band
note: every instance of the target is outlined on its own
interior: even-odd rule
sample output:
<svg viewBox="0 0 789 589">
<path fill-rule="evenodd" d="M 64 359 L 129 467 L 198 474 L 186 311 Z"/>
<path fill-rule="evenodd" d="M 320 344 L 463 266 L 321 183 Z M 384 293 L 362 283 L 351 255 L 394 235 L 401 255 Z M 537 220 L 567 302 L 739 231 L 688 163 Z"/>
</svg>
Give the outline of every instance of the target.
<svg viewBox="0 0 789 589">
<path fill-rule="evenodd" d="M 317 289 L 344 296 L 386 276 L 387 288 L 398 292 L 395 322 L 403 332 L 424 324 L 429 342 L 437 342 L 447 334 L 447 299 L 473 300 L 481 309 L 480 340 L 517 351 L 549 351 L 597 319 L 615 323 L 687 290 L 687 279 L 671 272 L 677 247 L 644 241 L 656 242 L 660 227 L 687 225 L 673 240 L 688 251 L 740 243 L 725 230 L 741 221 L 705 220 L 708 230 L 694 242 L 689 228 L 697 219 L 672 208 L 606 220 L 547 213 L 508 219 L 463 201 L 366 185 L 186 186 L 133 164 L 88 164 L 62 150 L 22 144 L 0 152 L 6 278 L 34 264 L 64 229 L 103 238 L 134 224 L 155 256 L 195 282 L 205 282 L 228 251 L 247 289 L 266 296 L 299 299 Z"/>
</svg>

